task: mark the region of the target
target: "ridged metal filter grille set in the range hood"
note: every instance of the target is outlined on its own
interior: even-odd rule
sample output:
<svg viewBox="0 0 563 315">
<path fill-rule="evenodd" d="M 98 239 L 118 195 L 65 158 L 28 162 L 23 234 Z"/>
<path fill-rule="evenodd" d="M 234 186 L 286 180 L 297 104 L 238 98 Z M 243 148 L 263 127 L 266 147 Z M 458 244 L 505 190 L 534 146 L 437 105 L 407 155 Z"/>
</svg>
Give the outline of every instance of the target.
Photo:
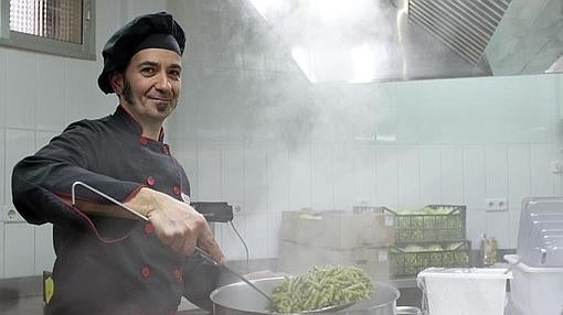
<svg viewBox="0 0 563 315">
<path fill-rule="evenodd" d="M 408 0 L 408 21 L 477 65 L 511 0 Z"/>
</svg>

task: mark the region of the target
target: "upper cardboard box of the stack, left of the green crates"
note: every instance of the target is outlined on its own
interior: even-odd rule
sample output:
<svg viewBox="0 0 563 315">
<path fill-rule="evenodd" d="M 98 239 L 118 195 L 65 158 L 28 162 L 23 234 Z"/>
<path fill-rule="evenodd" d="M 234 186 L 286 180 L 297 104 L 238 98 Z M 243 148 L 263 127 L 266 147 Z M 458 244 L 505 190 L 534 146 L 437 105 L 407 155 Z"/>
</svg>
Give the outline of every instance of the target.
<svg viewBox="0 0 563 315">
<path fill-rule="evenodd" d="M 280 241 L 331 249 L 389 247 L 394 243 L 393 215 L 347 211 L 284 211 Z"/>
</svg>

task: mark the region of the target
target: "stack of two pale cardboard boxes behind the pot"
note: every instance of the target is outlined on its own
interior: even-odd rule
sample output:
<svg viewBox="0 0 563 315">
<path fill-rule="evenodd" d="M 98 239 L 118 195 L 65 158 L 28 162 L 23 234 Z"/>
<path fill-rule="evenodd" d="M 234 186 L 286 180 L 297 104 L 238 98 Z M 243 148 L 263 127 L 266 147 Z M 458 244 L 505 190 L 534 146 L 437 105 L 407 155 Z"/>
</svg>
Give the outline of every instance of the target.
<svg viewBox="0 0 563 315">
<path fill-rule="evenodd" d="M 361 268 L 373 280 L 389 280 L 392 219 L 384 213 L 285 211 L 278 271 L 299 274 L 312 265 L 346 264 Z"/>
</svg>

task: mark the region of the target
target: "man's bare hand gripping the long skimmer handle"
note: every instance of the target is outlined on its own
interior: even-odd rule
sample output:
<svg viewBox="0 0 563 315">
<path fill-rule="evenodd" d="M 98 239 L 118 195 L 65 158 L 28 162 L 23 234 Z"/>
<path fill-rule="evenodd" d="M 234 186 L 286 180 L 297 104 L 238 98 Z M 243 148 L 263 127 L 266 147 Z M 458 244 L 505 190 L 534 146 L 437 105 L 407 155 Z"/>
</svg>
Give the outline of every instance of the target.
<svg viewBox="0 0 563 315">
<path fill-rule="evenodd" d="M 147 187 L 125 205 L 147 216 L 158 239 L 172 250 L 191 254 L 198 246 L 214 261 L 224 263 L 223 252 L 205 218 L 190 205 Z"/>
</svg>

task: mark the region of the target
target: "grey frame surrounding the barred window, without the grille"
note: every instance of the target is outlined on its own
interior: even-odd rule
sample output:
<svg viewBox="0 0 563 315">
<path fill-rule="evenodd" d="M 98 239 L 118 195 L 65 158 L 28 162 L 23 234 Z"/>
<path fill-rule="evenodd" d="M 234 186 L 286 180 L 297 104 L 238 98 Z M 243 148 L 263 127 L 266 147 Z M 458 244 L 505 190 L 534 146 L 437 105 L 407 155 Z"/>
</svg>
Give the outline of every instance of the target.
<svg viewBox="0 0 563 315">
<path fill-rule="evenodd" d="M 0 0 L 0 45 L 79 59 L 96 59 L 96 0 L 82 0 L 82 44 L 10 30 L 10 0 Z"/>
</svg>

